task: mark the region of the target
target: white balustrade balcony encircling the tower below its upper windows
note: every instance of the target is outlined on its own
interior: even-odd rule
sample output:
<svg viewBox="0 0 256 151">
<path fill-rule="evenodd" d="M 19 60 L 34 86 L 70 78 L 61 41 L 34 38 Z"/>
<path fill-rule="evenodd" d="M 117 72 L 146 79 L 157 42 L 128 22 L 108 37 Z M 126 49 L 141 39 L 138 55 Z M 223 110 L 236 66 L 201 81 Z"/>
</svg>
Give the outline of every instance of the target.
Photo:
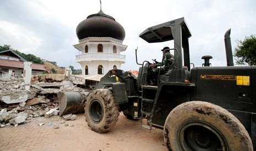
<svg viewBox="0 0 256 151">
<path fill-rule="evenodd" d="M 126 56 L 113 53 L 85 53 L 75 56 L 75 61 L 108 60 L 126 62 Z"/>
</svg>

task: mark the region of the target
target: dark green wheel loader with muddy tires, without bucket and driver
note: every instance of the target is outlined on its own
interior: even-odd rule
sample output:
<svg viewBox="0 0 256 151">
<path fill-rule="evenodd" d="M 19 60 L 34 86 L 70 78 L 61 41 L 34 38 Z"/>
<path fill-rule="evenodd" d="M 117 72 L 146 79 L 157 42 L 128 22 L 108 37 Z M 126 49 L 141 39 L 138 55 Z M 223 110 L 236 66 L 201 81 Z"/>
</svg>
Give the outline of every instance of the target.
<svg viewBox="0 0 256 151">
<path fill-rule="evenodd" d="M 146 42 L 174 43 L 170 49 L 175 58 L 173 68 L 159 72 L 156 85 L 149 85 L 152 63 L 138 63 L 136 49 L 138 76 L 112 69 L 88 96 L 85 119 L 91 130 L 103 133 L 113 129 L 123 112 L 128 119 L 140 120 L 145 129 L 163 129 L 168 150 L 253 150 L 256 67 L 233 66 L 228 30 L 227 66 L 211 66 L 212 57 L 203 56 L 201 67 L 190 68 L 191 36 L 184 18 L 146 28 L 139 35 Z"/>
</svg>

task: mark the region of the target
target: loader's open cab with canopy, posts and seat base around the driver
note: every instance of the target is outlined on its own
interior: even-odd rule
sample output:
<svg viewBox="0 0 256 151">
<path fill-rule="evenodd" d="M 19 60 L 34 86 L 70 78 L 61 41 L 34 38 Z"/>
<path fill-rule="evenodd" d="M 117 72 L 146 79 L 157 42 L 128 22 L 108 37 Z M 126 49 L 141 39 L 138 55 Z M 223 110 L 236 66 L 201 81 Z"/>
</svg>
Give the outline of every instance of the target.
<svg viewBox="0 0 256 151">
<path fill-rule="evenodd" d="M 139 37 L 146 40 L 148 43 L 166 42 L 168 40 L 173 40 L 174 42 L 174 69 L 172 69 L 169 76 L 159 75 L 158 79 L 161 82 L 183 83 L 184 80 L 189 77 L 190 59 L 188 38 L 191 36 L 192 35 L 184 18 L 171 20 L 164 24 L 149 27 L 144 32 L 140 33 Z M 186 67 L 186 69 L 184 69 L 184 67 Z M 140 70 L 141 73 L 139 78 L 142 77 L 141 83 L 143 85 L 143 83 L 145 83 L 145 78 L 143 78 L 145 71 L 144 63 Z"/>
</svg>

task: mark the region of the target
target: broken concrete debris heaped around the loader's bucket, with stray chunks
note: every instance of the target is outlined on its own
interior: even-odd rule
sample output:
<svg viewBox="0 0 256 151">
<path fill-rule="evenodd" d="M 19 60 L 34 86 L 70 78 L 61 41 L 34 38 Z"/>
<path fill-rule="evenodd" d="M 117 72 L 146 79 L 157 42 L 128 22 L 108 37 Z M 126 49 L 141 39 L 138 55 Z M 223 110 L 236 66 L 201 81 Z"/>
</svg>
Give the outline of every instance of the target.
<svg viewBox="0 0 256 151">
<path fill-rule="evenodd" d="M 83 78 L 83 77 L 82 77 Z M 23 78 L 0 80 L 0 126 L 25 124 L 38 117 L 50 118 L 59 115 L 59 92 L 86 92 L 86 82 L 90 86 L 96 84 L 101 77 L 87 77 L 87 79 L 73 78 L 64 80 L 64 75 L 43 74 L 32 77 L 30 89 L 26 90 Z M 76 81 L 77 80 L 77 81 Z M 33 83 L 34 82 L 34 83 Z M 51 82 L 49 84 L 49 82 Z M 82 86 L 82 88 L 80 88 Z M 60 89 L 62 87 L 63 89 Z M 64 116 L 63 116 L 64 118 Z M 77 115 L 67 115 L 65 120 L 75 120 Z M 61 121 L 61 124 L 65 123 Z M 43 123 L 39 124 L 40 126 Z M 59 125 L 53 124 L 53 127 Z"/>
</svg>

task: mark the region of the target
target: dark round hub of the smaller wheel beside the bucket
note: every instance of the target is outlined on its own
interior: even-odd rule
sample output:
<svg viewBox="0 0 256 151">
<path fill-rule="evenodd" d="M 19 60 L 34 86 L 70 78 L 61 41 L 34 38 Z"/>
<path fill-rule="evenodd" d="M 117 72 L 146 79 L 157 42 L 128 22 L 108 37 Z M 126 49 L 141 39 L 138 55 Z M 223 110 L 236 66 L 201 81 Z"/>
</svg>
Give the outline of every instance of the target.
<svg viewBox="0 0 256 151">
<path fill-rule="evenodd" d="M 99 100 L 94 100 L 91 102 L 89 108 L 89 114 L 92 121 L 94 121 L 94 123 L 100 123 L 104 116 L 104 111 L 101 102 Z"/>
</svg>

